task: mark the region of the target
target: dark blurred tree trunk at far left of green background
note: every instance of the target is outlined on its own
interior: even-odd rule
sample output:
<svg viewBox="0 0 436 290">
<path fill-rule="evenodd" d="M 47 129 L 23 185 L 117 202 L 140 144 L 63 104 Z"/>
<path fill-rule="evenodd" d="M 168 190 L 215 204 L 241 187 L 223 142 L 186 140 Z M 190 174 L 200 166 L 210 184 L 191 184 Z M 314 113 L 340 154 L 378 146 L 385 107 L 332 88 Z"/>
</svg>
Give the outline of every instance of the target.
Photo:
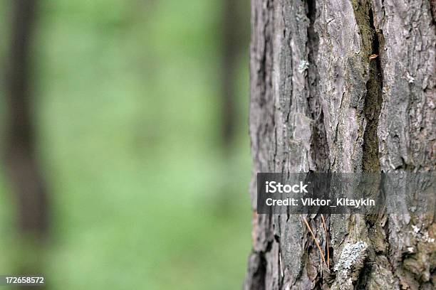
<svg viewBox="0 0 436 290">
<path fill-rule="evenodd" d="M 6 67 L 5 163 L 16 194 L 19 230 L 41 240 L 47 231 L 47 197 L 35 156 L 35 126 L 31 95 L 31 41 L 35 26 L 36 0 L 11 1 L 11 38 Z"/>
</svg>

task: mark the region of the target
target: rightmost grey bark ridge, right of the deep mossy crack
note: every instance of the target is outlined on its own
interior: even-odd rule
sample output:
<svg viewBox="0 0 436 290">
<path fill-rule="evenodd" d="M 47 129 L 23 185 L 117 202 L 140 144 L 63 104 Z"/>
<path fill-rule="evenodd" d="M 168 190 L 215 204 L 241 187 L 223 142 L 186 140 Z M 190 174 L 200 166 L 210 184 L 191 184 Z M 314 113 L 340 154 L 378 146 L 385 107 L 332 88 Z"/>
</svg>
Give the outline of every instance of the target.
<svg viewBox="0 0 436 290">
<path fill-rule="evenodd" d="M 380 169 L 434 171 L 435 21 L 432 1 L 375 2 L 375 26 L 383 29 L 383 106 L 378 126 Z M 382 11 L 382 12 L 380 12 Z M 385 16 L 383 16 L 385 14 Z M 398 33 L 403 31 L 403 33 Z M 417 193 L 419 194 L 419 193 Z M 417 198 L 419 198 L 417 196 Z M 403 289 L 435 287 L 435 243 L 416 237 L 431 233 L 433 214 L 389 216 L 388 259 Z"/>
</svg>

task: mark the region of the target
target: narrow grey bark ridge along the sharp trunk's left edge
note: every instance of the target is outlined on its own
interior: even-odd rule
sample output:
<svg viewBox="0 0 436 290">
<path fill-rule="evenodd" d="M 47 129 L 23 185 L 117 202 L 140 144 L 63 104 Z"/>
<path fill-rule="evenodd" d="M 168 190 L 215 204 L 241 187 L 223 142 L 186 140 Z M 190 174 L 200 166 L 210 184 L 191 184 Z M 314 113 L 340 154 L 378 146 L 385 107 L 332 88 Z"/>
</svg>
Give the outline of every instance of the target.
<svg viewBox="0 0 436 290">
<path fill-rule="evenodd" d="M 249 131 L 253 177 L 250 193 L 253 210 L 256 208 L 256 173 L 272 171 L 274 159 L 274 96 L 272 93 L 272 41 L 273 0 L 251 1 L 251 44 L 250 44 L 250 114 Z M 249 256 L 249 267 L 244 289 L 266 289 L 267 257 L 274 239 L 271 235 L 271 216 L 257 215 L 252 218 L 251 233 L 253 249 Z"/>
</svg>

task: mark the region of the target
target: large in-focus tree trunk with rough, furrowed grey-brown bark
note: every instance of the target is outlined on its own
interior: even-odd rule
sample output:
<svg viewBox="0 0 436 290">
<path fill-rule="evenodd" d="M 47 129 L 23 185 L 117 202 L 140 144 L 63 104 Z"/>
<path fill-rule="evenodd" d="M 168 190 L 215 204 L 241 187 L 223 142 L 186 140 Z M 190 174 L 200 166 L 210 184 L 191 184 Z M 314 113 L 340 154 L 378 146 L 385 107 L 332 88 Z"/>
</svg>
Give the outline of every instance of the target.
<svg viewBox="0 0 436 290">
<path fill-rule="evenodd" d="M 254 173 L 433 171 L 434 3 L 253 0 Z M 322 228 L 319 215 L 307 219 Z M 254 214 L 244 288 L 435 289 L 435 243 L 412 235 L 416 225 L 434 237 L 432 215 L 331 215 L 326 224 L 330 269 L 301 216 Z M 326 252 L 325 232 L 315 235 Z M 359 240 L 364 263 L 338 275 L 343 246 Z"/>
</svg>

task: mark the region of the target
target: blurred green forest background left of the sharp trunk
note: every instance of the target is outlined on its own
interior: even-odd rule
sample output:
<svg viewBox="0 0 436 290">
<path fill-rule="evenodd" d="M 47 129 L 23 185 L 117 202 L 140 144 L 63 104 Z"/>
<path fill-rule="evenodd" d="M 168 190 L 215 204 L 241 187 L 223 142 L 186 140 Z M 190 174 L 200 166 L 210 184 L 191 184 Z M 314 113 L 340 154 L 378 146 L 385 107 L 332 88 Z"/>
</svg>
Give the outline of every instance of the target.
<svg viewBox="0 0 436 290">
<path fill-rule="evenodd" d="M 0 21 L 0 275 L 240 289 L 249 0 L 0 0 Z"/>
</svg>

